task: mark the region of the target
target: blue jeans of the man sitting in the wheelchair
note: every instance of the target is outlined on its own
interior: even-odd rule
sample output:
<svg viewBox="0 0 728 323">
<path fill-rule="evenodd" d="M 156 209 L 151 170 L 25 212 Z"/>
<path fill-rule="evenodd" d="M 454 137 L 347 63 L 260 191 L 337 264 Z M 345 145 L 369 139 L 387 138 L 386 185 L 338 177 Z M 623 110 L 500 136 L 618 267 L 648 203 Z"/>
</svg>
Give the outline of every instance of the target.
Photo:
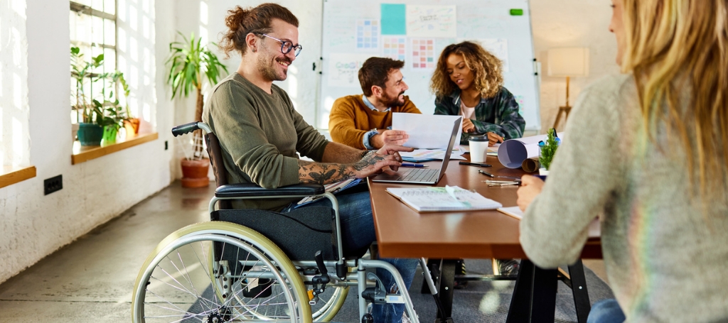
<svg viewBox="0 0 728 323">
<path fill-rule="evenodd" d="M 342 192 L 344 193 L 344 192 Z M 376 241 L 376 233 L 374 232 L 374 219 L 371 213 L 371 198 L 368 191 L 353 194 L 336 195 L 339 201 L 339 218 L 341 219 L 341 240 L 344 244 L 344 250 L 363 250 L 369 247 L 372 242 Z M 328 206 L 331 207 L 331 201 L 328 199 L 320 199 L 317 202 L 306 204 L 309 206 Z M 286 207 L 282 212 L 289 212 L 291 207 Z M 402 279 L 409 289 L 414 279 L 414 273 L 417 269 L 419 260 L 417 259 L 381 259 L 391 263 L 397 271 L 402 275 Z M 394 277 L 389 271 L 383 269 L 376 270 L 376 276 L 379 276 L 384 289 L 392 292 L 395 286 Z M 407 292 L 406 290 L 402 291 Z M 373 306 L 375 323 L 394 323 L 402 321 L 402 313 L 405 310 L 404 304 L 381 304 Z"/>
</svg>

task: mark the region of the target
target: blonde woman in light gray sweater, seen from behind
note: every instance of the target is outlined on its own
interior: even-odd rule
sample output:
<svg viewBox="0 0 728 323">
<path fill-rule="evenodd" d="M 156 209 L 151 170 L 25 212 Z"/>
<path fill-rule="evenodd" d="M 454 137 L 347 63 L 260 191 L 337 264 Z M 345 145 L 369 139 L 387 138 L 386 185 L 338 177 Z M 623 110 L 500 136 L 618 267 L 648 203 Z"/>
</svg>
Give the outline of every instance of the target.
<svg viewBox="0 0 728 323">
<path fill-rule="evenodd" d="M 601 215 L 616 301 L 587 322 L 728 322 L 727 1 L 612 2 L 624 74 L 582 91 L 547 182 L 523 177 L 523 250 L 573 263 Z"/>
</svg>

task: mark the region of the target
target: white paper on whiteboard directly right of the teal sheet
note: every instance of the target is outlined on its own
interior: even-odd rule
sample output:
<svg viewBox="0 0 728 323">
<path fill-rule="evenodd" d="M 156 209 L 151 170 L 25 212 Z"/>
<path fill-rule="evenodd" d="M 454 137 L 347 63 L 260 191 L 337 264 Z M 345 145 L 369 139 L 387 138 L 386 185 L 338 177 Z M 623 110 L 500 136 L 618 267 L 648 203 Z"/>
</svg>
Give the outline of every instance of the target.
<svg viewBox="0 0 728 323">
<path fill-rule="evenodd" d="M 457 36 L 457 19 L 455 6 L 407 6 L 408 37 L 442 37 Z"/>
</svg>

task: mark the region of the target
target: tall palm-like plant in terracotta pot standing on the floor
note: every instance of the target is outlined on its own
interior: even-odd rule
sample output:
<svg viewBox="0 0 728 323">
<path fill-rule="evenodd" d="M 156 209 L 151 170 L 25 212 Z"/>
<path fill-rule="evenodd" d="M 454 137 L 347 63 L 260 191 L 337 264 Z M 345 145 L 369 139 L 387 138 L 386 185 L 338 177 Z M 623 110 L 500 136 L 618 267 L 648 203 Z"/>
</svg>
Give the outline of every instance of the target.
<svg viewBox="0 0 728 323">
<path fill-rule="evenodd" d="M 217 55 L 202 46 L 202 38 L 195 39 L 194 33 L 187 39 L 178 32 L 183 41 L 170 43 L 170 57 L 166 64 L 169 68 L 167 84 L 172 87 L 172 98 L 179 95 L 187 97 L 192 89 L 197 93 L 197 105 L 195 105 L 194 121 L 202 121 L 202 105 L 205 97 L 202 95 L 202 85 L 205 79 L 214 85 L 221 79 L 222 72 L 228 73 L 227 68 L 218 60 Z M 215 46 L 217 44 L 211 43 Z M 205 187 L 210 185 L 207 178 L 207 170 L 210 167 L 210 159 L 205 158 L 202 152 L 202 132 L 197 130 L 193 135 L 194 149 L 190 156 L 181 160 L 182 186 L 183 187 Z"/>
</svg>

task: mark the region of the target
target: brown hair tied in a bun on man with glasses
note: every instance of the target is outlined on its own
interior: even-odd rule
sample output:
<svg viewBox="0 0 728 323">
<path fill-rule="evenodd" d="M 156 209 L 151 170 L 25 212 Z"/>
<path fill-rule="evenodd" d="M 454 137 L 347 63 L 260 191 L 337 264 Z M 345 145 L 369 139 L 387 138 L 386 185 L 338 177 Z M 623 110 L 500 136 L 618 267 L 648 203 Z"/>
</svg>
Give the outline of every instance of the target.
<svg viewBox="0 0 728 323">
<path fill-rule="evenodd" d="M 298 27 L 298 18 L 280 4 L 267 3 L 246 9 L 235 6 L 233 9 L 229 9 L 228 15 L 225 17 L 228 31 L 223 33 L 220 48 L 226 57 L 230 57 L 230 52 L 235 51 L 240 52 L 240 55 L 245 55 L 245 50 L 248 49 L 245 37 L 248 36 L 248 33 L 255 33 L 262 38 L 261 33 L 272 32 L 274 19 L 280 19 Z"/>
</svg>

